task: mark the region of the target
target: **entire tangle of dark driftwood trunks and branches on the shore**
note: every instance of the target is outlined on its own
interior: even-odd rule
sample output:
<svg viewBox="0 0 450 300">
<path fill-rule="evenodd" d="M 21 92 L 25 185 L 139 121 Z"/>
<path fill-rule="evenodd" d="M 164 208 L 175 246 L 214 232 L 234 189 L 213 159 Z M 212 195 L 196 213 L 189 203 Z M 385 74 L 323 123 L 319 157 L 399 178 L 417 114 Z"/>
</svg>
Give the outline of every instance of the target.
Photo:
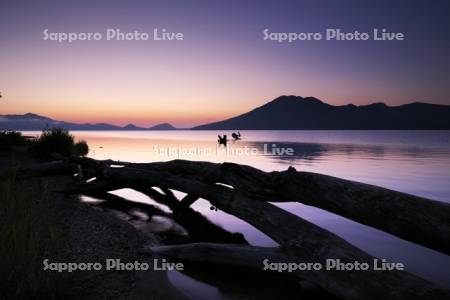
<svg viewBox="0 0 450 300">
<path fill-rule="evenodd" d="M 154 249 L 169 257 L 195 261 L 200 259 L 199 253 L 208 252 L 206 261 L 232 265 L 232 262 L 226 261 L 227 255 L 223 253 L 243 258 L 253 253 L 255 258 L 268 255 L 267 258 L 281 262 L 319 262 L 325 265 L 327 259 L 340 259 L 343 263 L 357 261 L 373 264 L 374 257 L 335 234 L 269 203 L 274 201 L 299 201 L 320 207 L 412 242 L 447 254 L 450 252 L 448 204 L 380 187 L 297 172 L 293 168 L 285 172 L 266 173 L 229 163 L 176 160 L 134 164 L 72 158 L 67 164 L 72 167 L 81 165 L 86 169 L 85 173 L 95 174 L 98 180 L 69 187 L 66 192 L 104 193 L 127 187 L 156 197 L 153 187 L 161 188 L 165 194 L 169 194 L 170 190 L 178 190 L 187 196 L 179 203 L 170 200 L 175 210 L 178 210 L 177 206 L 183 209 L 203 198 L 255 226 L 280 245 L 273 249 L 261 249 L 252 246 L 188 244 Z M 61 170 L 67 171 L 66 168 Z M 45 170 L 41 171 L 46 174 Z M 32 173 L 36 175 L 35 171 Z M 243 263 L 251 268 L 257 268 L 256 264 L 255 259 Z M 262 268 L 262 262 L 260 264 Z M 449 297 L 448 291 L 405 271 L 309 271 L 294 272 L 293 276 L 313 282 L 344 299 Z"/>
</svg>

